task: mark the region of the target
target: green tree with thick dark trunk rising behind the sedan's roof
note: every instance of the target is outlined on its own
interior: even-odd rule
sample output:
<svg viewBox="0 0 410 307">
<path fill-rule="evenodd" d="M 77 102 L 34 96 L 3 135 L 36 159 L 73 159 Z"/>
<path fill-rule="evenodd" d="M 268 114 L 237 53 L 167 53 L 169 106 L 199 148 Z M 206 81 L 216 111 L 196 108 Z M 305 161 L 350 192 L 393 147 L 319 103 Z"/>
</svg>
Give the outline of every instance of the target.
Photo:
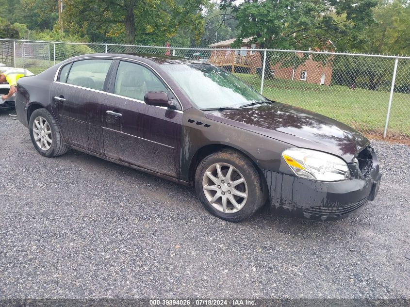
<svg viewBox="0 0 410 307">
<path fill-rule="evenodd" d="M 164 44 L 180 28 L 202 32 L 201 5 L 205 0 L 71 0 L 63 11 L 71 34 L 92 41 Z"/>
</svg>

